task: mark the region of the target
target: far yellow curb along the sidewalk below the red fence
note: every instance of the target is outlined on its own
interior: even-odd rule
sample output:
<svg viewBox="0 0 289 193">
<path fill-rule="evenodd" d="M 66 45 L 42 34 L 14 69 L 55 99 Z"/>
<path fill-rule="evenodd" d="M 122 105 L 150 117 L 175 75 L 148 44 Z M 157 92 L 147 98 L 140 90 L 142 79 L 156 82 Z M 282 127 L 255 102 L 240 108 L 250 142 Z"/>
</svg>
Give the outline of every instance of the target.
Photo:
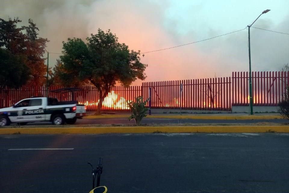
<svg viewBox="0 0 289 193">
<path fill-rule="evenodd" d="M 128 118 L 130 115 L 89 115 L 83 119 L 113 119 Z M 266 120 L 284 119 L 281 115 L 147 115 L 145 118 L 166 118 L 166 119 L 213 119 L 213 120 Z M 144 119 L 145 119 L 144 118 Z"/>
</svg>

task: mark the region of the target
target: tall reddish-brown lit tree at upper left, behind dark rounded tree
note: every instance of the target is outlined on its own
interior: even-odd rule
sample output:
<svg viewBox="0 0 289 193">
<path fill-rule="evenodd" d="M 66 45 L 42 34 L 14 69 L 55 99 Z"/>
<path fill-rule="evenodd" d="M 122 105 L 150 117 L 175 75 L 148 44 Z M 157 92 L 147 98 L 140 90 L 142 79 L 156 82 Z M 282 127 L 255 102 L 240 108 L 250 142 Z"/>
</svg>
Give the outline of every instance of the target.
<svg viewBox="0 0 289 193">
<path fill-rule="evenodd" d="M 8 21 L 0 18 L 0 48 L 19 56 L 30 69 L 30 86 L 43 86 L 46 82 L 46 65 L 43 54 L 47 39 L 38 37 L 39 29 L 33 20 L 29 19 L 29 26 L 17 27 L 21 20 L 11 18 Z"/>
</svg>

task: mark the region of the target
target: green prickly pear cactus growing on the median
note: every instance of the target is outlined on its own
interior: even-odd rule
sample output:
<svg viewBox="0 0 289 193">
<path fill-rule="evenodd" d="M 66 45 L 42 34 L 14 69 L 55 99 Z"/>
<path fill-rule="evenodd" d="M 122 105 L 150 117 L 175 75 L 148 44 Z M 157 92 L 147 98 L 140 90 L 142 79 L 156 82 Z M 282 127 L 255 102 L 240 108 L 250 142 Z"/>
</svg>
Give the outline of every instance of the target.
<svg viewBox="0 0 289 193">
<path fill-rule="evenodd" d="M 132 112 L 132 115 L 129 117 L 129 121 L 132 119 L 135 119 L 135 122 L 137 125 L 141 124 L 141 119 L 144 118 L 146 115 L 146 112 L 149 110 L 149 108 L 145 107 L 145 104 L 150 100 L 148 98 L 146 101 L 143 101 L 142 96 L 135 97 L 135 103 L 134 102 L 126 102 L 130 108 L 130 111 Z"/>
</svg>

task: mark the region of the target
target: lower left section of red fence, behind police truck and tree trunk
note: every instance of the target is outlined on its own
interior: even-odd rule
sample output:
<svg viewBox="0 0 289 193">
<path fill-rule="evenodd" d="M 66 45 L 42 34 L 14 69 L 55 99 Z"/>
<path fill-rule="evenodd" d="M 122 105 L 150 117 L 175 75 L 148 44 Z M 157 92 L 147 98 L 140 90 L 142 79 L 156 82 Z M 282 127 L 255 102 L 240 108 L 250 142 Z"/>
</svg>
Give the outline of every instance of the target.
<svg viewBox="0 0 289 193">
<path fill-rule="evenodd" d="M 62 87 L 48 87 L 48 90 L 56 90 Z M 74 100 L 79 104 L 85 104 L 88 111 L 97 109 L 99 93 L 97 89 L 92 86 L 79 87 L 80 90 L 74 91 Z M 141 95 L 140 86 L 122 87 L 116 86 L 113 91 L 104 98 L 102 110 L 129 110 L 126 101 L 132 101 L 135 97 Z M 0 108 L 9 107 L 24 98 L 31 96 L 46 96 L 45 87 L 21 87 L 19 89 L 4 89 L 0 92 Z M 60 101 L 72 100 L 71 92 L 54 93 L 48 92 L 48 97 L 55 97 Z"/>
</svg>

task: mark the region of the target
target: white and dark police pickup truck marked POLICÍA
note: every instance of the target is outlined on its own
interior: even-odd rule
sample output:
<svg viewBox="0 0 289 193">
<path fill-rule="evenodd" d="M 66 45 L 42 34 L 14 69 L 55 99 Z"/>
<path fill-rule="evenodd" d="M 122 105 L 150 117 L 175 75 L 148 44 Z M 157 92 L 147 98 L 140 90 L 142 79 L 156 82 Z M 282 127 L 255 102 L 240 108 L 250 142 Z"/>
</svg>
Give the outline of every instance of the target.
<svg viewBox="0 0 289 193">
<path fill-rule="evenodd" d="M 26 125 L 28 122 L 50 121 L 54 125 L 74 124 L 85 116 L 86 108 L 77 101 L 59 102 L 55 98 L 32 97 L 20 100 L 15 105 L 0 109 L 0 125 L 11 123 Z"/>
</svg>

